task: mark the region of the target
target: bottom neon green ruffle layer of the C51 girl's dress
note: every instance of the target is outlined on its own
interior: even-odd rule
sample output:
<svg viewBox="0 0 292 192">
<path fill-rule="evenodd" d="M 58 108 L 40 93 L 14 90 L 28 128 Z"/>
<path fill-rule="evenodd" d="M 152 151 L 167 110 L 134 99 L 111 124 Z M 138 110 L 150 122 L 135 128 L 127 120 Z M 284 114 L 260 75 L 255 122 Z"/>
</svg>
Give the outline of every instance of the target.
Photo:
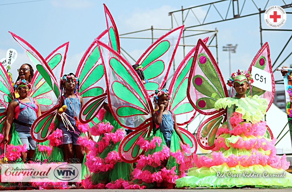
<svg viewBox="0 0 292 192">
<path fill-rule="evenodd" d="M 225 173 L 225 174 L 224 174 Z M 260 175 L 259 175 L 260 174 Z M 278 177 L 273 177 L 272 175 Z M 280 177 L 279 177 L 280 176 Z M 176 180 L 176 187 L 292 187 L 292 174 L 269 165 L 250 167 L 219 166 L 191 168 L 188 176 Z"/>
</svg>

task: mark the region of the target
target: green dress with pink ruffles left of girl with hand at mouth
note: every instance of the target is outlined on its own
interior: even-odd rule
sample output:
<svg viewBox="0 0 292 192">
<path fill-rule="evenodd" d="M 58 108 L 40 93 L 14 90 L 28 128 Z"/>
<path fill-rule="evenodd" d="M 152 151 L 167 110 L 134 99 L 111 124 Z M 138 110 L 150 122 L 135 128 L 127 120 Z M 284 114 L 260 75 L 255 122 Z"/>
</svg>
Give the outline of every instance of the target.
<svg viewBox="0 0 292 192">
<path fill-rule="evenodd" d="M 123 162 L 118 153 L 120 142 L 126 135 L 125 129 L 106 112 L 103 120 L 91 127 L 90 132 L 99 139 L 86 155 L 85 165 L 91 175 L 83 183 L 85 188 L 117 188 L 114 184 L 127 184 L 133 168 L 130 163 Z"/>
</svg>

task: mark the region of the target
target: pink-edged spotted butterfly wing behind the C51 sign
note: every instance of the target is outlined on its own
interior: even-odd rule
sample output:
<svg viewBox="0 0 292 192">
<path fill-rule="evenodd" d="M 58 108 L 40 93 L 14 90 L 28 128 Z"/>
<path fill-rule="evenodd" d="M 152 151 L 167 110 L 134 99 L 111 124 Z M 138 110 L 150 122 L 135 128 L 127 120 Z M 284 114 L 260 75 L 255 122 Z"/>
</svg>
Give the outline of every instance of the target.
<svg viewBox="0 0 292 192">
<path fill-rule="evenodd" d="M 270 49 L 269 49 L 268 42 L 266 42 L 264 45 L 262 45 L 261 49 L 256 54 L 255 58 L 252 60 L 252 63 L 249 66 L 249 71 L 251 71 L 251 73 L 252 73 L 252 66 L 255 66 L 256 68 L 262 69 L 262 70 L 271 74 L 272 91 L 265 91 L 265 90 L 262 90 L 262 89 L 255 87 L 255 86 L 252 86 L 252 95 L 258 95 L 258 96 L 261 96 L 261 97 L 267 99 L 267 103 L 268 103 L 267 111 L 268 111 L 270 106 L 272 105 L 274 97 L 275 97 L 275 79 L 274 79 L 273 70 L 272 70 Z M 252 75 L 254 78 L 255 77 L 254 74 L 252 74 Z M 251 91 L 250 90 L 247 91 L 246 95 L 251 96 Z"/>
</svg>

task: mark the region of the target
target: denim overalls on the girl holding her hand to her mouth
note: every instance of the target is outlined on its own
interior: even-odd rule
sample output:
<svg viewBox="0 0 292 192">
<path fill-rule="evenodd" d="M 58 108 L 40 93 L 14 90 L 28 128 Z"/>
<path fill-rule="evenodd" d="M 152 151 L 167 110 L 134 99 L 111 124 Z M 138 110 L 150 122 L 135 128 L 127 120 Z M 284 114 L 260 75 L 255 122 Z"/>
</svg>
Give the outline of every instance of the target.
<svg viewBox="0 0 292 192">
<path fill-rule="evenodd" d="M 159 114 L 159 110 L 156 111 L 157 115 Z M 168 111 L 167 114 L 162 114 L 162 122 L 160 123 L 159 127 L 156 125 L 160 132 L 163 134 L 165 143 L 167 147 L 170 147 L 170 139 L 173 133 L 173 119 L 172 114 Z"/>
</svg>

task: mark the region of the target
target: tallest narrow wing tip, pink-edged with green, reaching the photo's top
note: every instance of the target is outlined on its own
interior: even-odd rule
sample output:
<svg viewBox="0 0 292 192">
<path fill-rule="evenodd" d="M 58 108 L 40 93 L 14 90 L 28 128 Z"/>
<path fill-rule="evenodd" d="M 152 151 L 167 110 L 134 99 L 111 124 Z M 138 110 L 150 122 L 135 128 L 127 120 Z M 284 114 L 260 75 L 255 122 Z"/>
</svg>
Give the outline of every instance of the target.
<svg viewBox="0 0 292 192">
<path fill-rule="evenodd" d="M 109 12 L 109 9 L 106 7 L 106 4 L 103 4 L 104 6 L 104 12 L 106 15 L 106 25 L 107 30 L 109 33 L 109 46 L 113 48 L 118 53 L 121 53 L 120 51 L 120 38 L 118 29 L 116 28 L 116 23 L 113 20 L 112 14 Z"/>
</svg>

